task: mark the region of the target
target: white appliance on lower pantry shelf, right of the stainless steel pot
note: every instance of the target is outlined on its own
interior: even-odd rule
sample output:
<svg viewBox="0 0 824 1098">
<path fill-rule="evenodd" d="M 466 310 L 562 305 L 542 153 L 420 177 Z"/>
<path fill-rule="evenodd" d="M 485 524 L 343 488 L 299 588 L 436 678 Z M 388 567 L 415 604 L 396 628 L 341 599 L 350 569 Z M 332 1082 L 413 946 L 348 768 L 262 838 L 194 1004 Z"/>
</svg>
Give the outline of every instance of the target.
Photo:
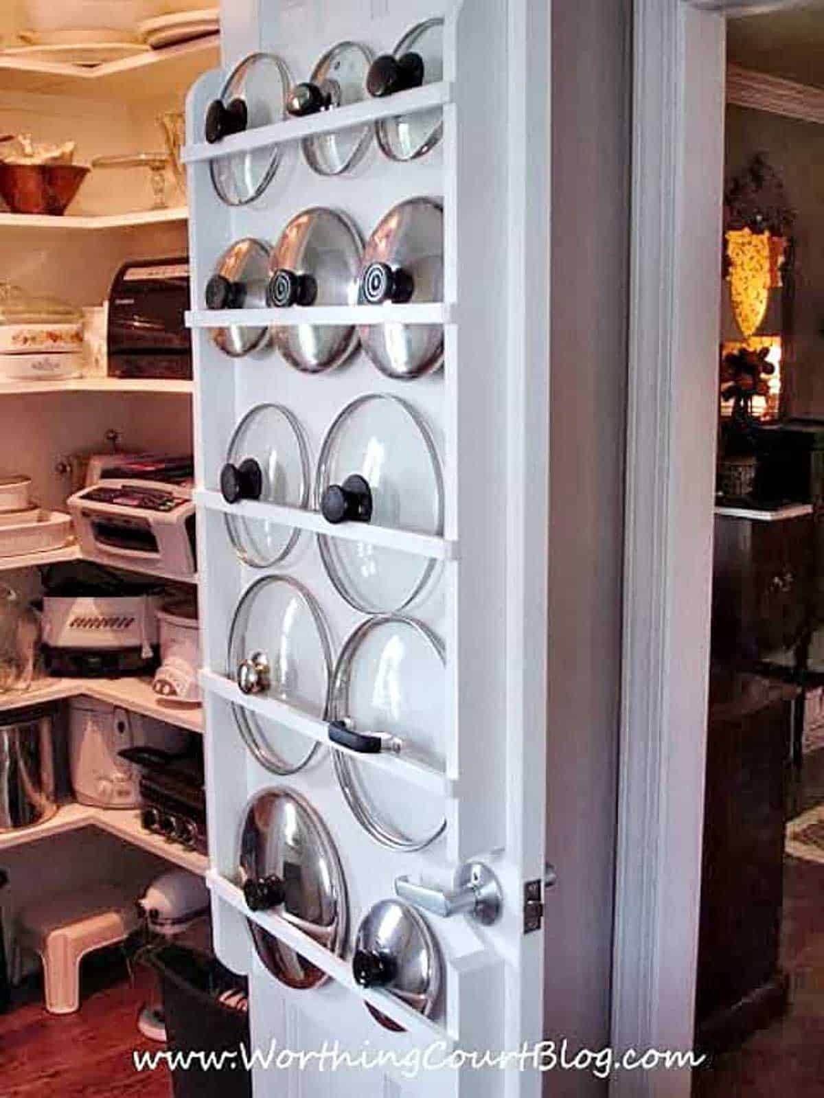
<svg viewBox="0 0 824 1098">
<path fill-rule="evenodd" d="M 174 725 L 88 697 L 69 702 L 71 787 L 81 805 L 137 808 L 141 768 L 120 757 L 149 747 L 169 754 L 186 750 L 189 733 Z"/>
</svg>

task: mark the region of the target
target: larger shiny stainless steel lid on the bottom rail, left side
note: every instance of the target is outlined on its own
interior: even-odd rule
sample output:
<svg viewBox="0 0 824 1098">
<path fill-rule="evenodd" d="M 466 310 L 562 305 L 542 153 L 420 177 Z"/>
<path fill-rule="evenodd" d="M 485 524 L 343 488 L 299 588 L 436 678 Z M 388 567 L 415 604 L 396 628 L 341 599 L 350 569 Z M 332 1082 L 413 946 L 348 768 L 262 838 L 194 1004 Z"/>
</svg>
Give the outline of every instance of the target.
<svg viewBox="0 0 824 1098">
<path fill-rule="evenodd" d="M 249 805 L 241 830 L 241 876 L 247 906 L 272 911 L 341 956 L 348 901 L 335 844 L 323 820 L 297 793 L 266 789 Z M 288 987 L 310 988 L 327 976 L 249 920 L 258 956 Z"/>
</svg>

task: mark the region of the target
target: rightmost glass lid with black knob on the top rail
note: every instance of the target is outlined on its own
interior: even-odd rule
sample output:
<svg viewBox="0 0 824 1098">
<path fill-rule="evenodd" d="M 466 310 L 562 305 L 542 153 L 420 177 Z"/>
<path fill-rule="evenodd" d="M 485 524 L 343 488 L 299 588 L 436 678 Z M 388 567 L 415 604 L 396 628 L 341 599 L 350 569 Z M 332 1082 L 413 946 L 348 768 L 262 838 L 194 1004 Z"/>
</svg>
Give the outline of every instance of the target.
<svg viewBox="0 0 824 1098">
<path fill-rule="evenodd" d="M 444 78 L 444 21 L 427 19 L 408 31 L 393 53 L 377 57 L 367 89 L 382 99 L 398 91 L 438 83 Z M 437 145 L 444 133 L 439 107 L 420 114 L 400 114 L 376 123 L 378 145 L 391 160 L 415 160 Z"/>
</svg>

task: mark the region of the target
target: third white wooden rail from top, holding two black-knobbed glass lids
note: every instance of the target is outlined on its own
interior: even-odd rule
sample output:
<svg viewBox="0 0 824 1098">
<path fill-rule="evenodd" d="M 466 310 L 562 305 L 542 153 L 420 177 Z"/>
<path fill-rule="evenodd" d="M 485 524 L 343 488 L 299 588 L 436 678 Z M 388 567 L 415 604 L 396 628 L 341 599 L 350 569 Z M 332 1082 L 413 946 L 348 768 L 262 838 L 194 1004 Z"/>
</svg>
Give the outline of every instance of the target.
<svg viewBox="0 0 824 1098">
<path fill-rule="evenodd" d="M 399 530 L 389 526 L 372 526 L 371 523 L 327 523 L 316 511 L 303 511 L 301 507 L 282 507 L 276 503 L 258 503 L 254 500 L 243 500 L 240 503 L 226 503 L 220 492 L 212 489 L 198 489 L 194 502 L 207 511 L 222 511 L 238 518 L 253 518 L 282 523 L 299 530 L 310 530 L 330 538 L 342 538 L 346 541 L 363 541 L 367 545 L 383 546 L 387 549 L 398 549 L 401 552 L 414 553 L 419 557 L 430 557 L 432 560 L 454 561 L 458 559 L 458 542 L 432 534 L 415 534 L 412 530 Z"/>
</svg>

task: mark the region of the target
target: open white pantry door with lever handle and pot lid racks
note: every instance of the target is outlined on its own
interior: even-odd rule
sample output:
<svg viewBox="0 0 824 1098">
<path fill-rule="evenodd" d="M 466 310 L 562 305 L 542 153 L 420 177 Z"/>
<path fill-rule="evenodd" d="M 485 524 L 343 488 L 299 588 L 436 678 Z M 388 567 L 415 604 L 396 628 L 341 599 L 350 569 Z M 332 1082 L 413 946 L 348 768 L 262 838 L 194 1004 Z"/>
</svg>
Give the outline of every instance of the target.
<svg viewBox="0 0 824 1098">
<path fill-rule="evenodd" d="M 410 27 L 431 19 L 443 20 L 443 71 L 435 82 L 402 92 L 414 116 L 428 111 L 432 117 L 434 112 L 434 128 L 442 112 L 443 132 L 431 152 L 398 163 L 372 142 L 355 170 L 330 177 L 312 169 L 300 142 L 289 141 L 287 127 L 293 122 L 274 123 L 268 136 L 286 144 L 263 193 L 236 205 L 219 197 L 212 167 L 220 163 L 220 144 L 204 142 L 204 119 L 243 56 L 276 53 L 297 82 L 307 80 L 336 43 L 361 43 L 375 55 L 385 54 Z M 209 884 L 218 953 L 249 976 L 253 1045 L 264 1057 L 275 1050 L 274 1062 L 256 1065 L 255 1095 L 537 1096 L 541 1073 L 528 1061 L 511 1057 L 502 1063 L 500 1056 L 536 1044 L 543 1032 L 549 3 L 224 0 L 222 20 L 224 70 L 202 78 L 187 107 L 193 299 L 189 322 L 196 362 Z M 278 79 L 261 87 L 277 96 Z M 380 110 L 387 101 L 372 100 L 371 108 L 369 102 L 342 108 L 361 112 L 350 115 L 350 124 L 364 117 L 374 121 L 378 115 L 368 111 Z M 305 126 L 305 120 L 300 121 Z M 224 148 L 243 157 L 254 131 L 225 139 Z M 242 169 L 237 178 L 245 186 L 249 177 Z M 290 365 L 292 351 L 267 347 L 266 339 L 245 355 L 230 357 L 212 338 L 214 328 L 243 327 L 237 307 L 220 314 L 205 307 L 207 282 L 215 271 L 229 270 L 225 264 L 221 267 L 221 257 L 235 242 L 248 238 L 269 248 L 287 223 L 319 206 L 343 213 L 367 238 L 388 211 L 400 203 L 420 206 L 422 198 L 443 206 L 437 245 L 444 257 L 442 300 L 426 305 L 414 300 L 390 306 L 353 304 L 325 315 L 338 324 L 357 320 L 364 345 L 381 327 L 381 317 L 391 322 L 382 344 L 390 357 L 399 344 L 407 346 L 409 326 L 442 325 L 443 369 L 398 380 L 376 369 L 374 356 L 361 347 L 337 369 L 310 374 Z M 391 235 L 398 217 L 383 224 Z M 245 257 L 256 247 L 247 246 Z M 319 288 L 322 280 L 319 269 Z M 302 322 L 305 329 L 311 306 L 302 313 L 301 307 L 255 307 L 246 313 L 246 328 Z M 386 312 L 379 315 L 376 309 Z M 383 403 L 376 405 L 376 400 Z M 275 416 L 269 433 L 241 445 L 238 424 L 252 423 L 247 417 L 265 405 L 280 410 L 263 413 Z M 285 415 L 305 440 L 309 496 L 296 504 L 272 494 L 267 502 L 258 491 L 256 502 L 230 502 L 221 492 L 224 466 L 234 462 L 237 471 L 241 459 L 249 457 L 265 466 Z M 348 450 L 336 430 L 348 430 Z M 428 440 L 424 446 L 422 437 Z M 364 526 L 357 534 L 352 533 L 353 523 L 332 525 L 323 517 L 313 493 L 329 462 L 346 452 L 352 471 L 360 473 L 365 464 L 356 456 L 364 449 L 372 458 L 378 451 L 400 453 L 397 514 L 404 514 L 413 496 L 427 504 L 435 500 L 436 530 L 394 526 L 391 508 L 383 512 L 381 525 Z M 298 445 L 294 452 L 300 450 Z M 433 460 L 439 470 L 434 477 Z M 346 469 L 341 466 L 341 471 Z M 376 505 L 377 500 L 376 494 Z M 288 548 L 277 563 L 256 567 L 261 562 L 250 560 L 242 547 L 238 551 L 241 526 L 243 537 L 256 539 L 259 547 L 269 535 L 277 540 L 272 530 L 278 524 L 298 531 L 297 540 L 286 539 Z M 263 529 L 268 534 L 258 538 L 256 531 Z M 278 544 L 282 548 L 283 539 Z M 359 548 L 353 552 L 353 547 Z M 363 567 L 365 561 L 368 567 Z M 435 752 L 438 765 L 419 765 L 403 752 L 358 757 L 350 751 L 343 757 L 359 769 L 385 810 L 398 814 L 409 829 L 423 826 L 433 797 L 439 805 L 443 832 L 421 849 L 399 849 L 381 841 L 353 810 L 341 768 L 333 764 L 339 748 L 326 741 L 323 721 L 260 687 L 260 661 L 250 679 L 255 653 L 245 653 L 246 677 L 238 679 L 230 635 L 245 596 L 271 595 L 276 586 L 266 582 L 286 580 L 293 592 L 300 590 L 294 598 L 304 609 L 311 604 L 319 612 L 329 637 L 329 663 L 339 669 L 349 649 L 347 638 L 386 624 L 381 592 L 394 585 L 405 590 L 410 576 L 415 586 L 424 573 L 426 582 L 400 615 L 413 618 L 422 635 L 436 638 L 443 668 L 436 666 L 431 676 L 413 670 L 404 697 L 413 698 L 416 712 L 428 707 L 439 715 L 433 721 L 441 728 L 422 730 L 424 737 L 442 735 Z M 353 582 L 367 586 L 353 591 Z M 277 604 L 258 605 L 269 609 L 255 620 L 277 646 Z M 308 628 L 313 628 L 311 623 Z M 323 645 L 318 651 L 314 670 L 325 658 Z M 378 680 L 393 651 L 398 654 L 390 645 L 381 649 L 382 662 L 366 662 L 374 681 L 359 681 L 359 697 L 380 694 Z M 364 664 L 359 666 L 363 674 Z M 298 670 L 309 669 L 304 664 Z M 353 670 L 338 676 L 338 685 L 348 684 L 349 695 L 356 675 Z M 286 691 L 289 684 L 281 685 Z M 272 774 L 255 739 L 260 721 L 286 729 L 290 750 L 298 754 L 301 743 L 307 753 L 316 747 L 307 765 L 288 775 Z M 320 946 L 277 907 L 253 910 L 247 905 L 241 888 L 241 834 L 249 806 L 259 805 L 267 791 L 277 796 L 286 791 L 309 806 L 334 845 L 347 895 L 338 918 L 348 916 L 339 955 Z M 471 912 L 444 917 L 431 910 L 437 893 L 457 888 L 463 867 L 472 863 L 498 882 L 499 917 L 485 921 Z M 428 899 L 416 901 L 410 885 L 424 886 Z M 424 920 L 442 965 L 441 990 L 426 1017 L 391 990 L 365 990 L 353 978 L 358 928 L 375 905 L 397 899 L 399 893 Z M 309 989 L 287 986 L 272 975 L 265 951 L 256 949 L 260 941 L 292 949 L 329 978 Z M 403 962 L 403 949 L 394 960 Z M 389 1027 L 376 1020 L 376 1010 L 390 1020 Z M 288 1054 L 320 1053 L 335 1042 L 355 1057 L 380 1052 L 392 1060 L 374 1069 L 361 1065 L 331 1071 L 329 1061 L 309 1060 L 301 1067 Z M 427 1049 L 428 1069 L 420 1063 Z M 283 1050 L 287 1054 L 278 1061 L 277 1052 Z M 492 1063 L 480 1069 L 467 1063 L 459 1067 L 463 1053 L 487 1053 Z"/>
</svg>

